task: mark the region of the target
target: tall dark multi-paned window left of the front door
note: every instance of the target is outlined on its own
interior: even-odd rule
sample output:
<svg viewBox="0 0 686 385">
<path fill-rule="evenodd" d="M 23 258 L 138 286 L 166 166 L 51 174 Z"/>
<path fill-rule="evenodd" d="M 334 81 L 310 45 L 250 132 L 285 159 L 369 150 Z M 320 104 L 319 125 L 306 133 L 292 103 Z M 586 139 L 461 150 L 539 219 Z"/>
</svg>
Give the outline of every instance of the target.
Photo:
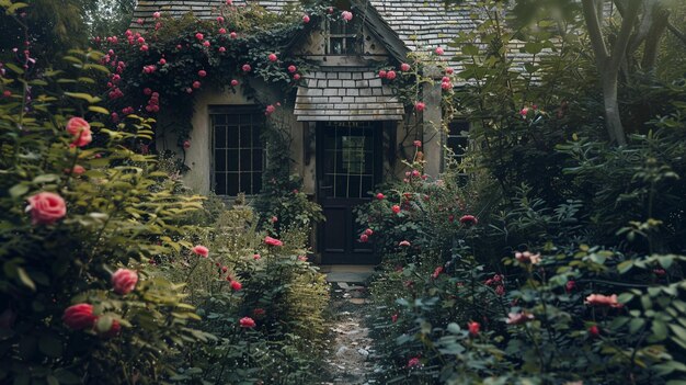
<svg viewBox="0 0 686 385">
<path fill-rule="evenodd" d="M 256 107 L 213 107 L 213 184 L 217 195 L 259 194 L 262 190 L 264 113 Z"/>
</svg>

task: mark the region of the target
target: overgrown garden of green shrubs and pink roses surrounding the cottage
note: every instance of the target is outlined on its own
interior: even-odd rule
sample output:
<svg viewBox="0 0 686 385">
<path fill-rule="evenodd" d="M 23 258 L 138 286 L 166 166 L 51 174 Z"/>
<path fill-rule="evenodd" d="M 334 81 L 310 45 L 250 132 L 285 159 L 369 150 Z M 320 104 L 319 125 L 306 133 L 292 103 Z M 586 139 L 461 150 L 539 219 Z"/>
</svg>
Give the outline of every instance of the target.
<svg viewBox="0 0 686 385">
<path fill-rule="evenodd" d="M 686 9 L 613 1 L 605 20 L 557 3 L 568 18 L 478 2 L 460 70 L 436 47 L 379 68 L 413 114 L 424 84 L 445 84 L 445 122 L 470 122 L 471 145 L 426 175 L 415 140 L 405 178 L 356 210 L 382 256 L 376 383 L 686 383 L 686 41 L 668 22 Z M 0 383 L 327 381 L 330 287 L 308 261 L 322 215 L 291 175 L 293 138 L 268 123 L 263 194 L 230 206 L 185 186 L 183 154 L 153 138 L 193 146 L 210 83 L 243 88 L 270 122 L 288 100 L 251 84 L 293 97 L 308 68 L 284 44 L 359 10 L 160 12 L 46 60 L 34 7 L 0 5 L 18 36 L 0 67 Z M 164 109 L 173 127 L 156 124 Z"/>
</svg>

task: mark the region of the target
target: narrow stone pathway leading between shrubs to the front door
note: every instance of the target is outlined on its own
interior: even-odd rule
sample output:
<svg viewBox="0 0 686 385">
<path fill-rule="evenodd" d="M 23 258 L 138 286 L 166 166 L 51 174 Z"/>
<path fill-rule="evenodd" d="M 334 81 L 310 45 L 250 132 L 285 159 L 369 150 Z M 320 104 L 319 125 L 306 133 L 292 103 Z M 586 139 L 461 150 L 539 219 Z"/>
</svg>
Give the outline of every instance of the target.
<svg viewBox="0 0 686 385">
<path fill-rule="evenodd" d="M 361 284 L 332 282 L 330 349 L 325 352 L 324 370 L 329 378 L 322 385 L 375 384 L 367 378 L 374 371 L 375 352 L 369 329 L 365 326 L 370 312 L 366 287 Z"/>
</svg>

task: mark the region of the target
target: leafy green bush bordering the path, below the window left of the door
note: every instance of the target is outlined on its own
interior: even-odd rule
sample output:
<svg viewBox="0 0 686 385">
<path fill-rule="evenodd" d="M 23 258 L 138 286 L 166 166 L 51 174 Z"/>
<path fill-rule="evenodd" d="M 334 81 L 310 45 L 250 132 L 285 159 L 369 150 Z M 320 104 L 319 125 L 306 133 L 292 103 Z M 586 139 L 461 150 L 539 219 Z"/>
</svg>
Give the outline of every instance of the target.
<svg viewBox="0 0 686 385">
<path fill-rule="evenodd" d="M 247 206 L 219 211 L 210 228 L 195 239 L 210 249 L 207 260 L 182 253 L 159 263 L 167 274 L 186 282 L 205 318 L 198 327 L 219 337 L 203 349 L 185 351 L 172 380 L 313 382 L 324 344 L 329 285 L 300 257 L 306 235 L 284 234 L 283 247 L 266 246 Z M 231 282 L 242 287 L 236 291 Z M 254 319 L 256 327 L 241 328 L 242 317 Z"/>
</svg>

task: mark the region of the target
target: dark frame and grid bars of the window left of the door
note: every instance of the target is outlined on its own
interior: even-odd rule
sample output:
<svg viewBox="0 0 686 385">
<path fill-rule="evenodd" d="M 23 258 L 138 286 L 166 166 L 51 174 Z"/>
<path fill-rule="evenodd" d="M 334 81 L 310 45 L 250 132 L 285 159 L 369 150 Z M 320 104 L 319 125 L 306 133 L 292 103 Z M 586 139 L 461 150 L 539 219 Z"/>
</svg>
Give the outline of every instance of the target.
<svg viewBox="0 0 686 385">
<path fill-rule="evenodd" d="M 237 146 L 236 148 L 233 147 L 220 147 L 219 149 L 225 150 L 225 160 L 227 167 L 225 168 L 224 171 L 217 171 L 217 138 L 216 138 L 216 124 L 215 124 L 215 116 L 216 115 L 252 115 L 251 116 L 251 123 L 250 123 L 250 127 L 251 127 L 251 141 L 250 141 L 250 146 L 249 147 L 243 147 L 240 143 L 240 127 L 241 124 L 238 123 L 238 135 L 239 138 L 237 138 L 236 143 Z M 230 199 L 230 197 L 237 197 L 239 194 L 244 194 L 245 196 L 256 196 L 259 195 L 263 190 L 264 190 L 264 185 L 262 184 L 262 178 L 264 174 L 264 171 L 266 169 L 266 147 L 264 146 L 264 143 L 262 140 L 262 134 L 266 124 L 266 120 L 263 116 L 263 112 L 260 109 L 259 105 L 256 104 L 228 104 L 228 105 L 209 105 L 207 109 L 207 116 L 208 116 L 208 126 L 209 126 L 209 190 L 217 194 L 218 196 L 222 196 L 226 199 Z M 260 117 L 260 124 L 255 125 L 254 122 L 252 121 L 255 116 Z M 239 117 L 239 122 L 240 122 L 240 117 Z M 228 126 L 228 124 L 225 124 L 226 126 Z M 255 141 L 252 140 L 252 136 L 254 134 L 254 129 L 255 127 L 259 128 L 258 135 L 259 135 L 259 146 L 260 147 L 254 147 Z M 227 129 L 226 132 L 227 135 L 227 145 L 229 144 L 229 139 L 228 139 L 228 135 L 229 132 Z M 228 167 L 228 151 L 229 150 L 237 150 L 238 151 L 238 161 L 239 165 L 236 166 L 236 171 L 230 171 L 229 167 Z M 251 157 L 250 157 L 250 170 L 241 170 L 240 165 L 242 162 L 242 158 L 241 158 L 241 152 L 242 150 L 250 150 Z M 260 170 L 255 171 L 254 169 L 254 158 L 252 157 L 252 151 L 255 149 L 260 149 L 262 152 L 262 167 Z M 224 194 L 219 194 L 217 193 L 217 173 L 218 172 L 222 172 L 226 174 L 226 189 Z M 237 174 L 237 180 L 238 180 L 238 191 L 236 192 L 236 195 L 230 194 L 230 190 L 229 190 L 229 174 L 230 173 L 236 173 Z M 250 191 L 245 191 L 243 189 L 243 186 L 241 185 L 241 177 L 244 173 L 252 173 L 251 175 L 251 183 L 250 183 Z M 260 183 L 259 183 L 259 190 L 255 191 L 255 182 L 254 182 L 254 178 L 258 177 L 260 178 Z"/>
</svg>

